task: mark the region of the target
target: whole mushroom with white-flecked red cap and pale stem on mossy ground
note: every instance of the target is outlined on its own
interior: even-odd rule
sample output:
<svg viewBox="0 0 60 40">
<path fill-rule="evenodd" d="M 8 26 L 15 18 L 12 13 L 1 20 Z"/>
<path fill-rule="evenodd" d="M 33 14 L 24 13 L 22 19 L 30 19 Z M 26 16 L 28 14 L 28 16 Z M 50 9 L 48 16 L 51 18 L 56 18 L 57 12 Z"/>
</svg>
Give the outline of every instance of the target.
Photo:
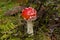
<svg viewBox="0 0 60 40">
<path fill-rule="evenodd" d="M 25 8 L 22 10 L 22 17 L 27 22 L 27 33 L 33 35 L 32 21 L 37 19 L 37 11 L 32 7 Z"/>
</svg>

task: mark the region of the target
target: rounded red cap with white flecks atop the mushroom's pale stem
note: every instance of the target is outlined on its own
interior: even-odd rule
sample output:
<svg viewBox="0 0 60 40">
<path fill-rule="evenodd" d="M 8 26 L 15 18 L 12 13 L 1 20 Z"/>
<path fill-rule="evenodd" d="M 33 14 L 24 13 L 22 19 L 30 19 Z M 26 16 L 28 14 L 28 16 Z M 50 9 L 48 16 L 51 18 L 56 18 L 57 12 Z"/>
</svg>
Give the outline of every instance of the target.
<svg viewBox="0 0 60 40">
<path fill-rule="evenodd" d="M 37 18 L 37 11 L 32 8 L 32 7 L 29 7 L 29 8 L 25 8 L 22 10 L 22 17 L 25 19 L 25 20 L 36 20 Z"/>
</svg>

